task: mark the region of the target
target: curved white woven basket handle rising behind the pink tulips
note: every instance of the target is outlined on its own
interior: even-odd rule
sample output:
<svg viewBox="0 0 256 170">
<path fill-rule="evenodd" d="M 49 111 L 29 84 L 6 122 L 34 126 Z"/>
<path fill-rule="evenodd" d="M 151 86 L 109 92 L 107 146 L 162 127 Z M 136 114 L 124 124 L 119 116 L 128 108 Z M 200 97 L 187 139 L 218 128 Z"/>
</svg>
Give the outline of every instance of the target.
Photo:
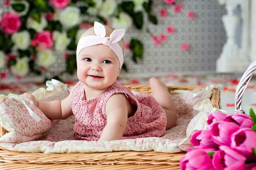
<svg viewBox="0 0 256 170">
<path fill-rule="evenodd" d="M 242 75 L 235 94 L 235 113 L 245 113 L 242 109 L 242 95 L 244 94 L 249 82 L 256 70 L 256 61 L 253 62 Z"/>
</svg>

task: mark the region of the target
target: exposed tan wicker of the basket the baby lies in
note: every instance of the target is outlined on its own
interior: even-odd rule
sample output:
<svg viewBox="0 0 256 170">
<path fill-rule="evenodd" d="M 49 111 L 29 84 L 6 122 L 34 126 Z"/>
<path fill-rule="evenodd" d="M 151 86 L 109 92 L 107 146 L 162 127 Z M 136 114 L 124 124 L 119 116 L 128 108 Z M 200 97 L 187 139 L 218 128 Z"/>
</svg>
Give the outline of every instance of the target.
<svg viewBox="0 0 256 170">
<path fill-rule="evenodd" d="M 151 93 L 150 86 L 126 85 L 133 91 Z M 168 86 L 173 90 L 193 90 L 202 86 L 178 87 Z M 204 87 L 203 87 L 204 88 Z M 213 106 L 221 109 L 220 91 L 212 90 L 210 100 Z M 7 133 L 0 127 L 0 135 Z M 180 169 L 179 161 L 183 153 L 159 153 L 159 152 L 103 152 L 103 153 L 25 153 L 9 151 L 0 147 L 0 169 L 1 170 L 63 170 L 63 169 L 112 169 L 112 170 L 164 170 Z"/>
</svg>

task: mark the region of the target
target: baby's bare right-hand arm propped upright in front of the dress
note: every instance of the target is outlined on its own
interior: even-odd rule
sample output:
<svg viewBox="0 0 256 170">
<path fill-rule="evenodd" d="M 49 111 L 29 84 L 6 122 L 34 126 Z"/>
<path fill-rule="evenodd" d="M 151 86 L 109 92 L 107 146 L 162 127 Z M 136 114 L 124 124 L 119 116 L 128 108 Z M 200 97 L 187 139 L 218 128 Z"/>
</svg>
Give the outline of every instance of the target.
<svg viewBox="0 0 256 170">
<path fill-rule="evenodd" d="M 114 94 L 106 104 L 107 125 L 98 141 L 121 140 L 126 129 L 128 110 L 126 96 Z"/>
</svg>

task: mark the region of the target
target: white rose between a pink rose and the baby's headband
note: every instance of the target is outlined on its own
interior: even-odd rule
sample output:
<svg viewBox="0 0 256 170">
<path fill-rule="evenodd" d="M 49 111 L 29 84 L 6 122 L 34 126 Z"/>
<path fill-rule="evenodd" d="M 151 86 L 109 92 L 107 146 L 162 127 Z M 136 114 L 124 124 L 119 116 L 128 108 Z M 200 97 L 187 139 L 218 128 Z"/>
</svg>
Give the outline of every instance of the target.
<svg viewBox="0 0 256 170">
<path fill-rule="evenodd" d="M 53 32 L 53 40 L 54 40 L 54 46 L 55 50 L 64 52 L 66 47 L 69 45 L 71 39 L 68 38 L 68 35 L 66 32 L 60 33 L 58 31 Z"/>
</svg>

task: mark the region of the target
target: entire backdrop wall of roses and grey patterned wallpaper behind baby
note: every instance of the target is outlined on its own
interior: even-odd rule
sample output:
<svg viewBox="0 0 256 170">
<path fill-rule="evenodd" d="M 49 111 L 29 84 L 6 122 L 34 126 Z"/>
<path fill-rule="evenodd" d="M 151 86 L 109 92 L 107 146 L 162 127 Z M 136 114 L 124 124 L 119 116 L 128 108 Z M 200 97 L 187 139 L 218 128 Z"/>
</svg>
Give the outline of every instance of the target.
<svg viewBox="0 0 256 170">
<path fill-rule="evenodd" d="M 1 79 L 74 75 L 78 39 L 94 21 L 127 29 L 122 75 L 128 76 L 212 71 L 225 42 L 220 19 L 224 11 L 217 1 L 4 0 L 3 3 Z M 194 33 L 198 35 L 193 36 Z M 200 40 L 212 44 L 201 44 Z M 197 49 L 207 46 L 209 50 L 199 54 Z"/>
</svg>

